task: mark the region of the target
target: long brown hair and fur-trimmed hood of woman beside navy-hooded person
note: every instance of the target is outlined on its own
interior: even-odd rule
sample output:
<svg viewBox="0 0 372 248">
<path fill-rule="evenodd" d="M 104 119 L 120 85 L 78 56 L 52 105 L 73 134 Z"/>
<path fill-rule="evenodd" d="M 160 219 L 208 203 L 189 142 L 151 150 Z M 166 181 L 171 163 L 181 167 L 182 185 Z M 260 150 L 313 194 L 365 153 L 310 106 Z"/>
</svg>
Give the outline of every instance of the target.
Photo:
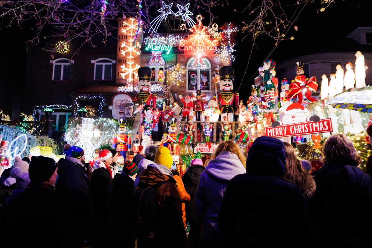
<svg viewBox="0 0 372 248">
<path fill-rule="evenodd" d="M 295 183 L 306 200 L 313 196 L 316 186 L 315 180 L 310 173 L 302 168 L 302 162 L 298 160 L 296 151 L 291 144 L 283 142 L 285 151 L 285 167 L 282 178 Z"/>
</svg>

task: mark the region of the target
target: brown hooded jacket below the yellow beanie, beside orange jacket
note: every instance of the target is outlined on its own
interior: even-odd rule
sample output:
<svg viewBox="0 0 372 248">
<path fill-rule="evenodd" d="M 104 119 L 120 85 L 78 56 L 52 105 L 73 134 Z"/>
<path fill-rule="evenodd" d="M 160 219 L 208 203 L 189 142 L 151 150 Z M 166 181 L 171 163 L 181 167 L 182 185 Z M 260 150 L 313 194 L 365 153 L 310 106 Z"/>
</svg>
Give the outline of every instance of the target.
<svg viewBox="0 0 372 248">
<path fill-rule="evenodd" d="M 140 188 L 152 187 L 158 202 L 154 247 L 186 247 L 186 232 L 182 220 L 181 197 L 171 171 L 161 164 L 150 164 L 140 175 Z"/>
</svg>

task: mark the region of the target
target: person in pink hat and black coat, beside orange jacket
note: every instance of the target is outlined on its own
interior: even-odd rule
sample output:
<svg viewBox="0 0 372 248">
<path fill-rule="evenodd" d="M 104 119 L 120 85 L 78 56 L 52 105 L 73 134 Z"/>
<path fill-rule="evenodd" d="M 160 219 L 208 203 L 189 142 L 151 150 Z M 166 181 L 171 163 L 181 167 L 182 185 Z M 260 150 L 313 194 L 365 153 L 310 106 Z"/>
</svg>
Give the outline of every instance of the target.
<svg viewBox="0 0 372 248">
<path fill-rule="evenodd" d="M 195 209 L 196 189 L 200 180 L 200 175 L 203 173 L 203 161 L 196 158 L 191 161 L 189 170 L 182 177 L 186 192 L 190 195 L 190 201 L 186 202 L 186 222 L 190 224 L 190 231 L 187 241 L 190 247 L 199 247 L 201 225 L 198 221 L 198 215 Z"/>
</svg>

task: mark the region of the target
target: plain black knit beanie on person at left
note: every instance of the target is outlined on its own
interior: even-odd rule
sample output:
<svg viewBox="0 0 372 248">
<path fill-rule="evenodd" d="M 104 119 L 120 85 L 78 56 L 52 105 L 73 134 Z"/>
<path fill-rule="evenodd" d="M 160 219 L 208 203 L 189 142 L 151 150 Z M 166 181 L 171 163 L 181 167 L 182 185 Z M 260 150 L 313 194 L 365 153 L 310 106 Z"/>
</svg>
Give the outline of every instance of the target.
<svg viewBox="0 0 372 248">
<path fill-rule="evenodd" d="M 28 168 L 31 182 L 42 183 L 49 180 L 56 168 L 57 163 L 54 161 L 54 159 L 47 158 L 42 155 L 37 157 L 33 156 Z"/>
</svg>

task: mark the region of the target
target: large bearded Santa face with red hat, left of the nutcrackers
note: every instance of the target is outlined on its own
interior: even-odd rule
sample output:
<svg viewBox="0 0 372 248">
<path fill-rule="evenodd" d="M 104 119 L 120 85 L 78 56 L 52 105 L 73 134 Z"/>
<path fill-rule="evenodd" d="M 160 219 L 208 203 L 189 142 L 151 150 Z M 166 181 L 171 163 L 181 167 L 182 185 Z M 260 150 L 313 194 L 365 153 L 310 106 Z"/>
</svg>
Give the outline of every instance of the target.
<svg viewBox="0 0 372 248">
<path fill-rule="evenodd" d="M 114 119 L 125 119 L 126 117 L 132 117 L 133 105 L 132 97 L 125 92 L 121 92 L 111 97 L 109 109 L 112 110 Z"/>
</svg>

